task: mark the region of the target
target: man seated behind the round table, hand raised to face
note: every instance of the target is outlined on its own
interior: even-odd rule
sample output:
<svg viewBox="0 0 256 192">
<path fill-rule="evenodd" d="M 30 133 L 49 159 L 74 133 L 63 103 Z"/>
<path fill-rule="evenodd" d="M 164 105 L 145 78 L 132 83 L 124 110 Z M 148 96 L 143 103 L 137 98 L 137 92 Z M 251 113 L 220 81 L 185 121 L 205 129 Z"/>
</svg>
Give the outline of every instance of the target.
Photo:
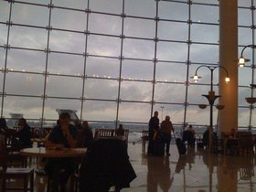
<svg viewBox="0 0 256 192">
<path fill-rule="evenodd" d="M 48 135 L 46 147 L 75 147 L 77 136 L 76 127 L 70 122 L 68 112 L 62 112 L 59 115 L 59 125 L 54 127 Z M 77 168 L 75 158 L 49 158 L 45 165 L 45 171 L 49 177 L 50 191 L 66 191 L 66 185 L 69 176 L 74 173 Z"/>
</svg>

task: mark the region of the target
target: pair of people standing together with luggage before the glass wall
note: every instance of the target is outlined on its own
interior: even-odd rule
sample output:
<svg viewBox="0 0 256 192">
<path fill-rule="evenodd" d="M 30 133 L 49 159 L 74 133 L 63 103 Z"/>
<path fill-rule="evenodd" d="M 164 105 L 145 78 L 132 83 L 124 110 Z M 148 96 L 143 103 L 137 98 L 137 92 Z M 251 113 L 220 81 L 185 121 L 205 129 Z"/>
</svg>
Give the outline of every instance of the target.
<svg viewBox="0 0 256 192">
<path fill-rule="evenodd" d="M 155 155 L 156 140 L 160 140 L 160 147 L 164 148 L 167 156 L 170 155 L 170 144 L 172 140 L 172 132 L 174 132 L 173 123 L 170 121 L 170 116 L 166 115 L 165 120 L 159 126 L 158 112 L 154 112 L 154 116 L 149 121 L 148 126 L 148 148 L 147 155 Z"/>
</svg>

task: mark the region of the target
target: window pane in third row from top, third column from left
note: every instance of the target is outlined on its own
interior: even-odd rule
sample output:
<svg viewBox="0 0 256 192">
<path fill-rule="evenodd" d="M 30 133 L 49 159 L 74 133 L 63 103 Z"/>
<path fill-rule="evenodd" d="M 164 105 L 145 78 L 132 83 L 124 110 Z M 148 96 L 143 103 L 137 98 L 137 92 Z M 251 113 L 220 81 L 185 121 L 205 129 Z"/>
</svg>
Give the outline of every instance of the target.
<svg viewBox="0 0 256 192">
<path fill-rule="evenodd" d="M 84 34 L 52 30 L 49 37 L 49 48 L 55 51 L 72 53 L 84 52 Z"/>
</svg>

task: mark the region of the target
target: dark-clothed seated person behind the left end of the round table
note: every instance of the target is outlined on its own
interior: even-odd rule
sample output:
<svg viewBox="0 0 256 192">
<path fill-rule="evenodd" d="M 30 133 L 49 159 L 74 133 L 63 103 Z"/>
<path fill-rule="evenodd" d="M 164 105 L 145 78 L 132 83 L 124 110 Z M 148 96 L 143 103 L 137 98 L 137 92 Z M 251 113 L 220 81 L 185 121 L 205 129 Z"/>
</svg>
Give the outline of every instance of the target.
<svg viewBox="0 0 256 192">
<path fill-rule="evenodd" d="M 31 128 L 27 124 L 27 120 L 21 118 L 17 122 L 18 130 L 15 133 L 15 138 L 12 140 L 12 148 L 19 150 L 27 147 L 32 147 L 32 133 Z"/>
</svg>

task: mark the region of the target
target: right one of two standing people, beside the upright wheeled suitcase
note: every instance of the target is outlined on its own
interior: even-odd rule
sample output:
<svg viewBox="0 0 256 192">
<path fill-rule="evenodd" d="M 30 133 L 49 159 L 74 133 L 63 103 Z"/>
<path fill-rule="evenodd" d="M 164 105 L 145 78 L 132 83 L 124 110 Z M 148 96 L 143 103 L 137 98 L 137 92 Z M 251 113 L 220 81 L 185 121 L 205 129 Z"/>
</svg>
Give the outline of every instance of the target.
<svg viewBox="0 0 256 192">
<path fill-rule="evenodd" d="M 170 155 L 170 144 L 172 139 L 172 132 L 174 132 L 173 123 L 170 121 L 170 116 L 166 115 L 165 120 L 161 123 L 160 135 L 161 140 L 165 144 L 166 155 Z"/>
</svg>

